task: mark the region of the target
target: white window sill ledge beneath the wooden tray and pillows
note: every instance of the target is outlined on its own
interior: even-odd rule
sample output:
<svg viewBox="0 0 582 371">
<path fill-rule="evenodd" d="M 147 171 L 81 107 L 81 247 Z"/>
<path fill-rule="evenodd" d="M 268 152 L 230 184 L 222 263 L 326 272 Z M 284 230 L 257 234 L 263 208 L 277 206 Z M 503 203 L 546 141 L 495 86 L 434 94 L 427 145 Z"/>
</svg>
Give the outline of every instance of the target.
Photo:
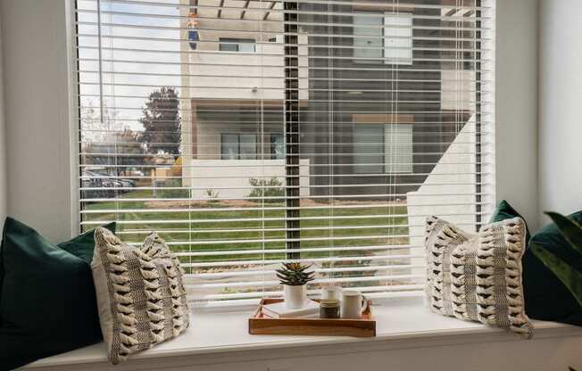
<svg viewBox="0 0 582 371">
<path fill-rule="evenodd" d="M 185 334 L 169 342 L 155 346 L 132 356 L 137 359 L 163 359 L 165 364 L 169 357 L 220 356 L 229 353 L 229 357 L 244 354 L 253 359 L 253 350 L 276 352 L 278 349 L 296 349 L 306 352 L 364 350 L 387 350 L 443 346 L 470 342 L 523 342 L 519 337 L 503 329 L 484 326 L 473 322 L 464 322 L 453 317 L 443 317 L 426 309 L 420 300 L 408 299 L 378 304 L 374 307 L 377 318 L 377 336 L 374 338 L 350 338 L 341 336 L 287 336 L 287 335 L 251 335 L 248 334 L 247 318 L 252 310 L 210 311 L 195 309 L 191 317 L 190 328 Z M 534 321 L 534 337 L 563 338 L 565 336 L 582 337 L 582 328 L 557 324 L 553 322 Z M 331 346 L 331 347 L 330 347 Z M 331 349 L 333 348 L 333 350 Z M 255 355 L 255 357 L 258 357 Z M 73 350 L 58 356 L 40 359 L 25 368 L 73 367 L 80 364 L 107 364 L 104 343 Z M 129 365 L 128 365 L 129 366 Z M 66 368 L 62 368 L 66 369 Z"/>
</svg>

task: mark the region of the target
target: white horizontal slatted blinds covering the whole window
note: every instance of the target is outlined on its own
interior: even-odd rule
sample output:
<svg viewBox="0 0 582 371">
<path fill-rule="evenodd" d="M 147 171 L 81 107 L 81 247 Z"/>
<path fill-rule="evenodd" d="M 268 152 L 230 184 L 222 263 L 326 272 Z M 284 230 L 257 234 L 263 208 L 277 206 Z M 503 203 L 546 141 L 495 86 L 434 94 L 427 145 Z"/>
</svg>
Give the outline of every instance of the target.
<svg viewBox="0 0 582 371">
<path fill-rule="evenodd" d="M 424 218 L 491 208 L 493 2 L 78 0 L 81 227 L 157 231 L 201 303 L 312 264 L 422 289 Z"/>
</svg>

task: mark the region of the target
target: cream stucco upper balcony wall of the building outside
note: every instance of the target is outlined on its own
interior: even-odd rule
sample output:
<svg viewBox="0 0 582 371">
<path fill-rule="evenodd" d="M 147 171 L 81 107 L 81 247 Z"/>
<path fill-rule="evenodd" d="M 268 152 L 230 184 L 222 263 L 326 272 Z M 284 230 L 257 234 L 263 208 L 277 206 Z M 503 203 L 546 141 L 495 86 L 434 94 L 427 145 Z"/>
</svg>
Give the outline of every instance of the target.
<svg viewBox="0 0 582 371">
<path fill-rule="evenodd" d="M 188 0 L 180 0 L 189 4 Z M 217 3 L 218 4 L 218 3 Z M 244 5 L 241 3 L 241 6 Z M 227 5 L 227 8 L 232 5 Z M 181 85 L 185 88 L 182 97 L 195 99 L 233 100 L 282 100 L 285 97 L 285 38 L 283 37 L 282 5 L 277 4 L 270 12 L 268 22 L 262 12 L 245 12 L 245 20 L 239 21 L 241 10 L 223 9 L 221 18 L 213 9 L 197 9 L 199 42 L 192 50 L 183 43 L 180 59 L 182 66 Z M 190 10 L 180 9 L 183 17 Z M 255 21 L 251 21 L 255 20 Z M 274 20 L 278 20 L 276 22 Z M 187 39 L 187 19 L 182 21 L 185 29 L 181 37 Z M 241 32 L 242 31 L 242 32 Z M 220 51 L 220 38 L 254 39 L 254 53 Z M 275 38 L 275 42 L 269 41 Z M 299 36 L 299 87 L 300 99 L 308 99 L 308 40 Z M 217 78 L 220 77 L 220 78 Z"/>
</svg>

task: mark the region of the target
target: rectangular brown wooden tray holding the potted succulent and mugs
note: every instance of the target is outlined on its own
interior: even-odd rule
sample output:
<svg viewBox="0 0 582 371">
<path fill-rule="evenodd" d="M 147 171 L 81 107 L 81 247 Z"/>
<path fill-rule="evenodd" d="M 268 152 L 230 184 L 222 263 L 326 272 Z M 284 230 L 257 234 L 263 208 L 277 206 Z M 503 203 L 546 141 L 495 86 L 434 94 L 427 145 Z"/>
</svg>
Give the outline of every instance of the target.
<svg viewBox="0 0 582 371">
<path fill-rule="evenodd" d="M 271 318 L 263 315 L 263 305 L 280 301 L 283 299 L 262 299 L 253 317 L 248 318 L 249 334 L 376 336 L 376 320 L 372 317 L 371 301 L 368 301 L 368 308 L 360 319 Z"/>
</svg>

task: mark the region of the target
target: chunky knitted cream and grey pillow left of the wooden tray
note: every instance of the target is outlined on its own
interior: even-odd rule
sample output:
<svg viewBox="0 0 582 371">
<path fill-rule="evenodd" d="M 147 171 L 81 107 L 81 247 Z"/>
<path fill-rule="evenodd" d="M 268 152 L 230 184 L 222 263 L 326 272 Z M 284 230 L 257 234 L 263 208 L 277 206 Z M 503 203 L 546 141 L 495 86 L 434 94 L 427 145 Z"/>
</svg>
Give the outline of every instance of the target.
<svg viewBox="0 0 582 371">
<path fill-rule="evenodd" d="M 156 234 L 141 249 L 96 229 L 91 268 L 112 364 L 183 333 L 189 309 L 179 260 Z"/>
</svg>

